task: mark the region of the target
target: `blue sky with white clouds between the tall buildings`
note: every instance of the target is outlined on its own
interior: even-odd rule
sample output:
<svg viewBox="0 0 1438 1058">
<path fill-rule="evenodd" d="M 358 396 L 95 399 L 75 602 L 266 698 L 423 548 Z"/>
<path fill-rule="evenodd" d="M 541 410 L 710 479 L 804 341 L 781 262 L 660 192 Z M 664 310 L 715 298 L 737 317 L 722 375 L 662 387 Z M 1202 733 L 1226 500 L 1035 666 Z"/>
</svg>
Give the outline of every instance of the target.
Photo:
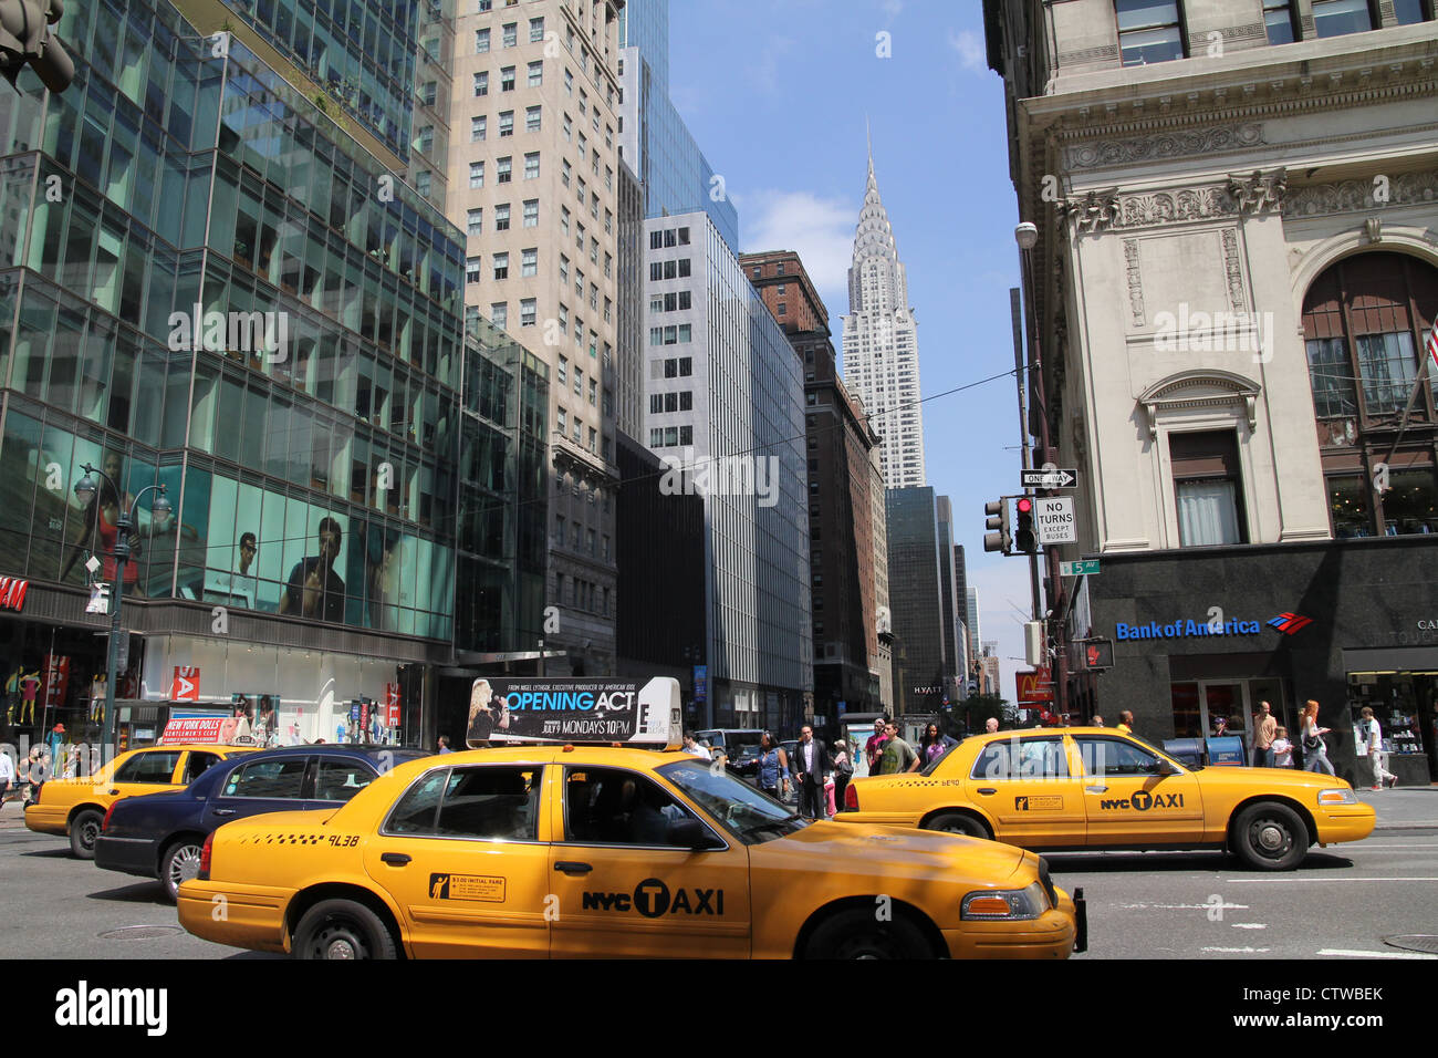
<svg viewBox="0 0 1438 1058">
<path fill-rule="evenodd" d="M 998 642 L 1012 701 L 1028 668 L 1028 563 L 984 553 L 984 504 L 1018 492 L 1017 387 L 1008 376 L 938 396 L 1014 367 L 1018 207 L 979 0 L 672 0 L 669 78 L 739 212 L 741 250 L 800 253 L 835 350 L 867 115 L 919 321 L 928 484 L 953 501 L 979 632 Z"/>
</svg>

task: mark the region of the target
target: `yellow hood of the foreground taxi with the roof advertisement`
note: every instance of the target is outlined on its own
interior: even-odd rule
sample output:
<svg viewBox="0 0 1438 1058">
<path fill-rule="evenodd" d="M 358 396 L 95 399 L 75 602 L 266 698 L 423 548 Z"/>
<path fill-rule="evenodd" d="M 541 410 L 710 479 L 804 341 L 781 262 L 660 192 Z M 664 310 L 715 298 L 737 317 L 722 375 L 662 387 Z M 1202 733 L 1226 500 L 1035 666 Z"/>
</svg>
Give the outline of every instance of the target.
<svg viewBox="0 0 1438 1058">
<path fill-rule="evenodd" d="M 830 865 L 843 864 L 850 875 L 968 878 L 985 885 L 1005 881 L 1028 855 L 984 838 L 833 820 L 749 846 L 749 862 L 756 868 L 812 869 L 815 858 L 821 858 Z"/>
</svg>

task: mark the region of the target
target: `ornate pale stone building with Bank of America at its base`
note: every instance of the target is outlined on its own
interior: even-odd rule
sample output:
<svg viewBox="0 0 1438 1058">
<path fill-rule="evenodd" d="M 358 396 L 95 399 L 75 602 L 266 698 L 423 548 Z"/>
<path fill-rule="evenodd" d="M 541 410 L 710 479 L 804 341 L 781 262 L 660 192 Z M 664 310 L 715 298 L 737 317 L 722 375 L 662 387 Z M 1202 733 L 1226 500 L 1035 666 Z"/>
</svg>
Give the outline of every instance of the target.
<svg viewBox="0 0 1438 1058">
<path fill-rule="evenodd" d="M 1432 4 L 984 9 L 1038 226 L 1030 356 L 1080 474 L 1064 557 L 1103 556 L 1070 630 L 1116 645 L 1114 671 L 1076 687 L 1084 713 L 1194 737 L 1218 715 L 1245 733 L 1267 700 L 1296 731 L 1311 698 L 1340 772 L 1366 777 L 1347 733 L 1372 704 L 1395 749 L 1426 750 L 1395 754 L 1426 782 Z"/>
</svg>

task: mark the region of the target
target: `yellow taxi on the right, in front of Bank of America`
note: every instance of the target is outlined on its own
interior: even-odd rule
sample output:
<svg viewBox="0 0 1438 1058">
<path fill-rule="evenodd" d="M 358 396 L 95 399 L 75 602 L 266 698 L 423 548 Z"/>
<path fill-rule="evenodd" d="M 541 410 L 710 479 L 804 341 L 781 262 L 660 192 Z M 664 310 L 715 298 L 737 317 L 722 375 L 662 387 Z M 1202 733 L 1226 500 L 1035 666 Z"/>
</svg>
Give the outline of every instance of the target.
<svg viewBox="0 0 1438 1058">
<path fill-rule="evenodd" d="M 1359 841 L 1373 808 L 1342 779 L 1277 767 L 1189 769 L 1107 727 L 965 738 L 922 772 L 854 779 L 835 819 L 969 833 L 1027 849 L 1215 848 L 1258 869 Z"/>
</svg>

